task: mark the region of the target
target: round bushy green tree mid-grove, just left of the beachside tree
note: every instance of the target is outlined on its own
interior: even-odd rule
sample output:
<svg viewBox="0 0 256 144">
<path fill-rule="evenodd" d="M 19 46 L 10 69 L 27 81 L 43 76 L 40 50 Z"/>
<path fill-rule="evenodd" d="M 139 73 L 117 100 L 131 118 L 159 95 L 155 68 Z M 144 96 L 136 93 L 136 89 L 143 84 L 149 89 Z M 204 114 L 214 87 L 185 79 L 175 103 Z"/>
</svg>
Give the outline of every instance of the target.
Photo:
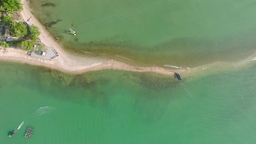
<svg viewBox="0 0 256 144">
<path fill-rule="evenodd" d="M 11 24 L 10 32 L 13 36 L 24 37 L 27 35 L 28 30 L 26 25 L 22 22 L 13 22 Z"/>
</svg>

